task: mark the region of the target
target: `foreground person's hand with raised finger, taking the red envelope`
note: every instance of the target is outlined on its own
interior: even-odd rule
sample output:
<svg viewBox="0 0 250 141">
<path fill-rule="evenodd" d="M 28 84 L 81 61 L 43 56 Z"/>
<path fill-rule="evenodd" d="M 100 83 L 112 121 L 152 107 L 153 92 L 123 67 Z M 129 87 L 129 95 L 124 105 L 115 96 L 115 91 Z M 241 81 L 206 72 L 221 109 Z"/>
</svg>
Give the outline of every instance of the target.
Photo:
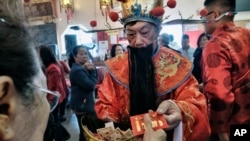
<svg viewBox="0 0 250 141">
<path fill-rule="evenodd" d="M 143 135 L 143 141 L 166 141 L 167 134 L 162 129 L 154 131 L 149 114 L 144 116 L 145 132 Z"/>
</svg>

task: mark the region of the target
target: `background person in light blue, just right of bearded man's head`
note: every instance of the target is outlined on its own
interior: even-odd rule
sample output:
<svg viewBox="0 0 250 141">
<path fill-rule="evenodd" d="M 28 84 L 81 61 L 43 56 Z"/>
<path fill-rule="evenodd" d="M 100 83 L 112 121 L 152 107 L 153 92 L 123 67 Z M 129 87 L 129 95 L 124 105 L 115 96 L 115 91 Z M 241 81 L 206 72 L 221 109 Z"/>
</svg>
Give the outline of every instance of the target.
<svg viewBox="0 0 250 141">
<path fill-rule="evenodd" d="M 181 54 L 186 57 L 189 61 L 193 62 L 194 60 L 194 51 L 195 49 L 190 46 L 189 35 L 183 34 L 181 39 L 182 47 L 178 50 Z"/>
</svg>

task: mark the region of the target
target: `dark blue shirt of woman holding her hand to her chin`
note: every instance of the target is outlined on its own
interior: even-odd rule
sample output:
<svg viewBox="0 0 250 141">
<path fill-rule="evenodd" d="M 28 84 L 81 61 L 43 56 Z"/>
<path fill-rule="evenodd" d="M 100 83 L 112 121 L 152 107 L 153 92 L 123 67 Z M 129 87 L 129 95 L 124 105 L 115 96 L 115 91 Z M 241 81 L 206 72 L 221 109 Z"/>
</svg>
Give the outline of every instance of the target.
<svg viewBox="0 0 250 141">
<path fill-rule="evenodd" d="M 70 105 L 75 112 L 94 114 L 94 89 L 97 82 L 97 71 L 86 70 L 74 63 L 70 70 L 71 100 Z"/>
</svg>

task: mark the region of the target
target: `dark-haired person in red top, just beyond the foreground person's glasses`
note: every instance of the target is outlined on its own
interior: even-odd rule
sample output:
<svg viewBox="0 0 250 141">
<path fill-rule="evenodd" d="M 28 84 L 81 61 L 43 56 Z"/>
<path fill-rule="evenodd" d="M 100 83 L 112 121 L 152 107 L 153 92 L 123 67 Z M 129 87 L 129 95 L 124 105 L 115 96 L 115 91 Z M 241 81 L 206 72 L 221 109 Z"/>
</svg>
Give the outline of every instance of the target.
<svg viewBox="0 0 250 141">
<path fill-rule="evenodd" d="M 51 141 L 53 139 L 55 139 L 56 141 L 61 141 L 63 139 L 66 140 L 70 137 L 70 135 L 68 131 L 59 123 L 62 121 L 61 119 L 62 117 L 60 117 L 60 111 L 63 110 L 61 108 L 65 108 L 65 105 L 63 102 L 65 101 L 66 94 L 67 94 L 67 86 L 66 86 L 64 72 L 60 64 L 58 63 L 55 54 L 52 52 L 52 49 L 49 46 L 41 45 L 38 48 L 39 48 L 39 56 L 40 56 L 41 62 L 45 68 L 45 76 L 47 78 L 47 87 L 50 90 L 57 91 L 61 94 L 60 99 L 59 99 L 59 104 L 52 112 L 53 122 L 49 120 L 50 122 L 48 123 L 46 133 L 49 133 L 48 131 L 51 130 L 51 128 L 54 128 L 55 130 L 52 130 L 53 134 L 51 134 L 51 136 L 48 138 L 50 138 Z M 53 102 L 53 99 L 54 99 L 53 96 L 47 96 L 47 98 L 49 102 L 51 103 Z M 46 138 L 46 141 L 49 141 L 50 139 Z"/>
</svg>

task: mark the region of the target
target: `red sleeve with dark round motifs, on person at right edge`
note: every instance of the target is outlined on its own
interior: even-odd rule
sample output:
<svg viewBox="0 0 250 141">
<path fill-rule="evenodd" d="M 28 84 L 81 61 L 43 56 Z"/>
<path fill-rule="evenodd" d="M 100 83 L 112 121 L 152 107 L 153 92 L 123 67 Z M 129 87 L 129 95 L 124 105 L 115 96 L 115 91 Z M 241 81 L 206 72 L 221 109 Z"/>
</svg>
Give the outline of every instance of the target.
<svg viewBox="0 0 250 141">
<path fill-rule="evenodd" d="M 203 51 L 203 85 L 208 97 L 212 131 L 228 132 L 228 119 L 235 99 L 231 85 L 229 51 L 216 41 L 207 44 Z"/>
</svg>

